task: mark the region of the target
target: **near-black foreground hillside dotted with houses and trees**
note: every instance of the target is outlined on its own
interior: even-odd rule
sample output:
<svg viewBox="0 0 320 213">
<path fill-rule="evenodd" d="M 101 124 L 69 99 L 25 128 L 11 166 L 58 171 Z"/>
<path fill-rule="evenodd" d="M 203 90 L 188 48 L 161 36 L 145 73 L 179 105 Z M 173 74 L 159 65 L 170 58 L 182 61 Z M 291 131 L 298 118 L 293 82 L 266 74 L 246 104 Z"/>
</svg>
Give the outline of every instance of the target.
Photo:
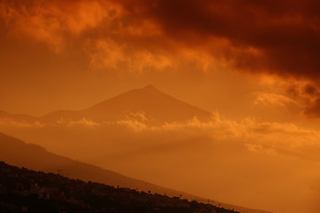
<svg viewBox="0 0 320 213">
<path fill-rule="evenodd" d="M 216 212 L 210 204 L 70 179 L 0 162 L 0 212 Z"/>
</svg>

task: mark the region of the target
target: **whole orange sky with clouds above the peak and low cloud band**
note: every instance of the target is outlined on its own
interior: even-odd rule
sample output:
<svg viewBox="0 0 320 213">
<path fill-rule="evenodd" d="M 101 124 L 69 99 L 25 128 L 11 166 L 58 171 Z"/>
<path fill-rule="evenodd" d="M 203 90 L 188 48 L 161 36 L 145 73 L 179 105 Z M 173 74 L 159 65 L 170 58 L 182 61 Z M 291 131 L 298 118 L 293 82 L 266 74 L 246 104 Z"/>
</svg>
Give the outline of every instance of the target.
<svg viewBox="0 0 320 213">
<path fill-rule="evenodd" d="M 316 1 L 2 1 L 0 108 L 37 115 L 80 109 L 153 83 L 210 111 L 230 112 L 239 97 L 267 92 L 316 117 L 318 7 Z"/>
</svg>

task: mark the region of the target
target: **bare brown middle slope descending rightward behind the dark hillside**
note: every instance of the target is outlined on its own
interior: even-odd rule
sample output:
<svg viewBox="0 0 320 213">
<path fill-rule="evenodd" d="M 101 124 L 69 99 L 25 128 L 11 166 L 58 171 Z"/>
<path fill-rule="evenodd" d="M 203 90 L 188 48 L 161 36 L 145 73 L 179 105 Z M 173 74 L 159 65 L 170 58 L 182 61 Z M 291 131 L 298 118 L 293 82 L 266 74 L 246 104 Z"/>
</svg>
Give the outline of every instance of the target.
<svg viewBox="0 0 320 213">
<path fill-rule="evenodd" d="M 0 133 L 0 161 L 9 164 L 26 167 L 31 170 L 41 170 L 45 172 L 61 173 L 71 178 L 80 178 L 85 181 L 95 181 L 107 185 L 120 185 L 141 191 L 152 193 L 166 193 L 169 196 L 179 196 L 188 200 L 206 201 L 192 194 L 181 193 L 172 189 L 168 189 L 159 185 L 153 185 L 145 181 L 125 177 L 111 170 L 103 170 L 99 167 L 77 162 L 67 157 L 52 154 L 41 146 L 26 144 L 23 141 Z M 233 205 L 220 203 L 221 207 L 226 209 L 236 209 L 241 213 L 268 213 L 263 210 L 246 209 Z"/>
</svg>

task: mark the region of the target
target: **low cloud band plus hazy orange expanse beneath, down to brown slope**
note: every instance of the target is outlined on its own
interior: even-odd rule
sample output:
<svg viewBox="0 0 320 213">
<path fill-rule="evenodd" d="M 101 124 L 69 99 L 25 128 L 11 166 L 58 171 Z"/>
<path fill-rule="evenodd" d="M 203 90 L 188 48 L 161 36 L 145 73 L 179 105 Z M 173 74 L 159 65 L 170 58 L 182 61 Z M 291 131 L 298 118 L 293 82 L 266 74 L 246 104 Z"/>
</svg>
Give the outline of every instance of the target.
<svg viewBox="0 0 320 213">
<path fill-rule="evenodd" d="M 53 153 L 214 200 L 318 211 L 320 131 L 253 118 L 236 122 L 217 113 L 209 122 L 149 126 L 145 120 L 128 114 L 116 122 L 6 120 L 0 127 Z"/>
</svg>

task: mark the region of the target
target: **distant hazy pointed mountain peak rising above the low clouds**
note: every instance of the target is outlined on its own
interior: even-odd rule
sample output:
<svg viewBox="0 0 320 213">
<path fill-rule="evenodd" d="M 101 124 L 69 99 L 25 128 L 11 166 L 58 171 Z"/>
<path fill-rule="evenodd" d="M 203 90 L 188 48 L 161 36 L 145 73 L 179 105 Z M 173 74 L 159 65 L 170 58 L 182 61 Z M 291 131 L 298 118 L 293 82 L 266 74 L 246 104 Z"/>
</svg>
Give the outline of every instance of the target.
<svg viewBox="0 0 320 213">
<path fill-rule="evenodd" d="M 194 117 L 201 121 L 210 119 L 211 114 L 196 106 L 174 99 L 154 86 L 127 91 L 95 106 L 81 111 L 57 111 L 44 115 L 44 121 L 63 119 L 77 121 L 88 119 L 95 122 L 114 122 L 135 119 L 148 124 L 185 122 Z"/>
</svg>

